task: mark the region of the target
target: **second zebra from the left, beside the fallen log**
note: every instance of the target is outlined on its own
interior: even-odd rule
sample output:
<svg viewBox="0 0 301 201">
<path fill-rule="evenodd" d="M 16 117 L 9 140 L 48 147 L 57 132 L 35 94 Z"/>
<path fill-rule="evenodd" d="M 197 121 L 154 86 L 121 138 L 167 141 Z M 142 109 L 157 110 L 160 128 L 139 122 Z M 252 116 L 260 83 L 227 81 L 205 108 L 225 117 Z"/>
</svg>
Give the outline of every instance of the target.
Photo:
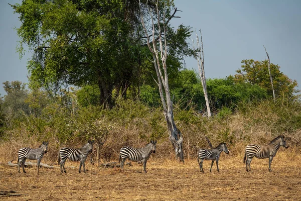
<svg viewBox="0 0 301 201">
<path fill-rule="evenodd" d="M 80 161 L 78 172 L 80 173 L 81 166 L 83 166 L 84 172 L 86 173 L 85 160 L 87 159 L 89 153 L 91 153 L 93 150 L 93 142 L 94 140 L 88 140 L 88 143 L 85 144 L 85 146 L 77 149 L 69 147 L 61 148 L 58 156 L 58 164 L 60 164 L 61 172 L 63 173 L 64 169 L 64 172 L 67 173 L 65 169 L 65 162 L 67 158 L 69 158 L 71 161 Z"/>
</svg>

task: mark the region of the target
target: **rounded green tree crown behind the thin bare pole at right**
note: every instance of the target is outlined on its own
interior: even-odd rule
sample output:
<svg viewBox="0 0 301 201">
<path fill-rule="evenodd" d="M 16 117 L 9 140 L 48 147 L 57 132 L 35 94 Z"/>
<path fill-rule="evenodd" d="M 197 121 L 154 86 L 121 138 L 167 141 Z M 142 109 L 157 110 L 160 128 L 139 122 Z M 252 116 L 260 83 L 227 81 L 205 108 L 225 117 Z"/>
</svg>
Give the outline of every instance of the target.
<svg viewBox="0 0 301 201">
<path fill-rule="evenodd" d="M 250 83 L 266 89 L 269 96 L 272 96 L 272 87 L 268 73 L 268 61 L 254 61 L 253 59 L 243 60 L 241 69 L 236 70 L 235 81 L 239 83 Z M 280 66 L 270 64 L 271 76 L 273 77 L 273 85 L 275 96 L 293 97 L 298 90 L 295 88 L 298 84 L 296 80 L 289 79 L 280 71 Z"/>
</svg>

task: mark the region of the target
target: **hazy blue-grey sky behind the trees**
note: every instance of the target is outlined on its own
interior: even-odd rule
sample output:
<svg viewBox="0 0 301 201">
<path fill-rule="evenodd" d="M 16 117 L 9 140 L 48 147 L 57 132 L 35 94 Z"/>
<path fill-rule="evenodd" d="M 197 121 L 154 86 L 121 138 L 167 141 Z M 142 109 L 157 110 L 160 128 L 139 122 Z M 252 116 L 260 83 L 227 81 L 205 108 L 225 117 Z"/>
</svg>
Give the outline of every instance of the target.
<svg viewBox="0 0 301 201">
<path fill-rule="evenodd" d="M 19 0 L 0 0 L 0 94 L 3 82 L 28 82 L 28 52 L 21 60 L 16 52 L 20 27 L 18 15 L 8 5 Z M 175 0 L 178 10 L 172 24 L 202 30 L 207 78 L 234 75 L 243 59 L 264 60 L 265 45 L 270 60 L 289 78 L 301 84 L 301 1 L 201 1 Z M 196 38 L 195 35 L 192 36 Z M 197 68 L 196 60 L 185 59 L 186 67 Z M 300 88 L 300 86 L 299 86 Z"/>
</svg>

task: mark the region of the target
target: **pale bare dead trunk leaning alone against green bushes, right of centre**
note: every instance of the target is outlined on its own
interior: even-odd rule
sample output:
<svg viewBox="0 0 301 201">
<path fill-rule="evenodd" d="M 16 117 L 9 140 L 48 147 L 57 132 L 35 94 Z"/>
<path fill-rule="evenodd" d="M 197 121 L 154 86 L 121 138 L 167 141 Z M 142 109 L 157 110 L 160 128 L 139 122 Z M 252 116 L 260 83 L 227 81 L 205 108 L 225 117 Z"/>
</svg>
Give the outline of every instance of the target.
<svg viewBox="0 0 301 201">
<path fill-rule="evenodd" d="M 208 119 L 210 119 L 211 117 L 211 111 L 210 111 L 210 106 L 209 106 L 209 99 L 208 99 L 208 93 L 207 93 L 207 84 L 206 84 L 206 77 L 205 77 L 205 69 L 204 69 L 204 48 L 203 48 L 203 40 L 202 40 L 202 32 L 200 31 L 200 35 L 201 35 L 201 45 L 200 45 L 200 40 L 199 40 L 199 36 L 197 35 L 197 61 L 198 61 L 198 67 L 199 67 L 199 75 L 201 78 L 201 83 L 202 83 L 202 87 L 203 87 L 203 91 L 204 91 L 204 97 L 205 97 L 205 102 L 206 102 L 206 107 L 207 107 L 207 115 L 208 115 Z M 194 47 L 194 41 L 193 42 L 193 49 L 195 50 Z"/>
</svg>

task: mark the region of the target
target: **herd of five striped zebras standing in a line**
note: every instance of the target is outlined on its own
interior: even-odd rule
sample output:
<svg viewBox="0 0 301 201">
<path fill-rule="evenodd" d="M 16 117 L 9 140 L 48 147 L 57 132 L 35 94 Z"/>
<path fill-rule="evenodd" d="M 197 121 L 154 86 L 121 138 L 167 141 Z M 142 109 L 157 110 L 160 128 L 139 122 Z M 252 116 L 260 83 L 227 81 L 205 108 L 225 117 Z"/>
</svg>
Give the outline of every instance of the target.
<svg viewBox="0 0 301 201">
<path fill-rule="evenodd" d="M 94 140 L 88 140 L 87 144 L 85 144 L 81 148 L 69 148 L 63 147 L 60 149 L 58 154 L 58 163 L 60 164 L 61 172 L 66 173 L 65 169 L 65 162 L 67 158 L 71 161 L 80 161 L 79 165 L 79 173 L 81 172 L 81 167 L 83 166 L 84 172 L 85 170 L 85 160 L 87 159 L 89 153 L 93 150 L 93 142 Z M 129 159 L 134 162 L 142 161 L 143 163 L 143 171 L 146 173 L 146 162 L 152 153 L 156 153 L 156 144 L 157 141 L 150 141 L 146 144 L 145 147 L 142 148 L 132 148 L 132 147 L 122 147 L 119 153 L 119 162 L 120 162 L 120 169 L 123 170 L 123 164 L 126 159 Z M 210 143 L 211 146 L 211 143 Z M 286 144 L 286 138 L 283 135 L 279 135 L 278 137 L 274 138 L 270 141 L 269 144 L 265 145 L 256 145 L 256 144 L 249 144 L 246 146 L 245 154 L 243 158 L 243 163 L 246 165 L 246 171 L 251 171 L 250 163 L 255 156 L 259 159 L 269 158 L 269 165 L 268 170 L 271 171 L 271 162 L 273 157 L 276 155 L 280 146 L 284 148 L 288 148 Z M 212 147 L 212 146 L 211 146 Z M 22 166 L 23 172 L 26 173 L 24 169 L 24 163 L 26 159 L 37 160 L 38 161 L 38 173 L 39 173 L 39 166 L 40 162 L 45 153 L 48 151 L 48 142 L 43 142 L 37 149 L 32 148 L 21 148 L 18 152 L 18 171 L 20 172 L 20 167 Z M 229 153 L 226 143 L 220 143 L 216 148 L 211 149 L 199 149 L 198 151 L 198 163 L 200 166 L 200 171 L 204 172 L 203 170 L 203 161 L 204 160 L 211 160 L 211 167 L 210 172 L 213 166 L 214 161 L 216 161 L 217 171 L 219 172 L 218 168 L 218 161 L 220 154 L 222 152 L 226 154 Z M 249 167 L 249 169 L 248 169 Z"/>
</svg>

